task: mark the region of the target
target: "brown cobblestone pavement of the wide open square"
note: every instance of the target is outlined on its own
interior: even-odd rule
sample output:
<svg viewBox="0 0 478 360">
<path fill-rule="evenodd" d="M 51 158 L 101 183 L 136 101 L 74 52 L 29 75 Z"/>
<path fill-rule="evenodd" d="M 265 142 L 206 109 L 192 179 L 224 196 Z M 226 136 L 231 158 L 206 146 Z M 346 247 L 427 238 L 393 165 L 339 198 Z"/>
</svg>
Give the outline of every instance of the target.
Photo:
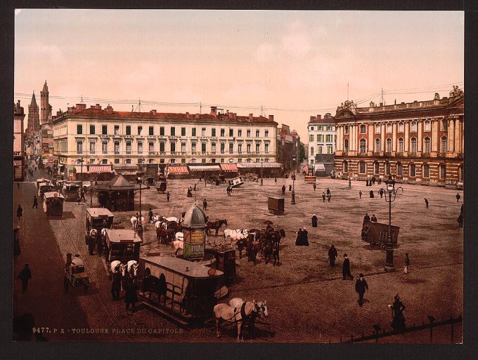
<svg viewBox="0 0 478 360">
<path fill-rule="evenodd" d="M 345 180 L 319 179 L 316 192 L 306 185 L 302 176 L 295 182 L 296 205 L 290 204 L 290 192 L 285 194 L 285 215 L 271 215 L 267 209 L 268 196 L 281 196 L 283 184 L 288 187 L 290 179 L 264 179 L 245 182 L 234 189 L 233 196 L 226 195 L 226 185 L 207 185 L 198 180 L 169 180 L 169 202 L 155 187 L 142 192 L 142 213 L 147 218 L 148 209 L 155 214 L 179 217 L 196 201 L 202 207 L 207 199 L 207 215 L 211 220 L 226 218 L 230 229 L 263 228 L 265 220 L 274 222 L 276 228 L 284 228 L 286 237 L 280 251 L 280 266 L 266 265 L 263 260 L 252 265 L 247 258 L 237 260 L 237 279 L 229 288 L 233 297 L 245 300 L 267 300 L 270 316 L 267 324 L 258 324 L 253 341 L 259 342 L 340 342 L 350 335 L 371 333 L 372 326 L 379 324 L 389 328 L 391 314 L 387 304 L 399 293 L 407 309 L 407 324 L 422 324 L 431 314 L 437 319 L 462 314 L 463 307 L 463 229 L 456 218 L 461 202 L 456 202 L 456 191 L 435 187 L 403 185 L 404 192 L 392 203 L 392 225 L 400 227 L 399 248 L 394 251 L 396 272 L 385 274 L 385 252 L 361 241 L 360 231 L 363 215 L 375 214 L 379 222 L 387 223 L 388 204 L 380 199 L 375 185 L 375 198 L 370 199 L 364 182 L 352 182 L 348 189 Z M 193 198 L 186 197 L 188 186 L 197 184 Z M 34 186 L 30 184 L 30 186 Z M 330 188 L 330 202 L 321 199 L 321 194 Z M 359 199 L 359 189 L 363 192 Z M 22 189 L 22 191 L 24 191 Z M 463 200 L 463 192 L 460 192 Z M 15 192 L 16 196 L 16 192 Z M 32 197 L 32 194 L 31 194 Z M 425 208 L 424 197 L 429 200 Z M 111 300 L 110 279 L 103 258 L 90 256 L 84 245 L 86 203 L 65 203 L 62 220 L 49 220 L 64 264 L 67 252 L 80 253 L 93 281 L 89 293 L 78 293 L 79 307 L 89 328 L 108 328 L 108 334 L 96 335 L 100 341 L 235 341 L 235 330 L 226 327 L 220 339 L 214 328 L 198 328 L 191 331 L 177 328 L 167 319 L 140 305 L 135 313 L 124 309 L 123 301 Z M 138 200 L 138 199 L 136 199 Z M 15 201 L 16 203 L 16 201 Z M 96 201 L 93 199 L 93 205 Z M 137 205 L 136 205 L 137 206 Z M 115 221 L 121 226 L 130 226 L 129 218 L 138 211 L 115 213 Z M 312 228 L 311 215 L 318 216 L 318 227 Z M 39 214 L 37 223 L 46 220 Z M 295 232 L 299 227 L 309 231 L 310 246 L 295 246 Z M 223 241 L 223 227 L 219 236 L 208 236 L 207 241 Z M 146 225 L 141 247 L 142 255 L 171 255 L 172 247 L 158 245 L 154 225 Z M 328 265 L 328 247 L 335 244 L 339 252 L 337 267 Z M 366 274 L 370 292 L 363 307 L 357 303 L 354 281 L 342 281 L 342 254 L 348 253 L 354 276 Z M 411 273 L 403 274 L 403 258 L 410 253 Z M 19 265 L 18 265 L 19 266 Z M 63 276 L 63 274 L 61 274 Z M 58 279 L 63 279 L 59 277 Z M 29 289 L 30 291 L 30 289 Z M 65 296 L 63 287 L 56 296 Z M 145 334 L 126 333 L 126 329 L 144 329 Z M 456 325 L 455 341 L 460 342 L 460 324 Z M 120 329 L 111 333 L 112 329 Z M 140 331 L 140 332 L 141 332 Z M 137 331 L 134 331 L 137 332 Z M 149 332 L 149 333 L 148 333 Z M 155 333 L 154 333 L 155 332 Z M 426 332 L 421 332 L 426 333 Z M 438 335 L 437 342 L 449 342 L 448 335 Z M 443 331 L 445 334 L 446 331 Z M 77 340 L 84 340 L 79 335 Z M 408 333 L 394 337 L 396 342 L 429 342 L 425 335 Z M 383 338 L 380 342 L 388 342 Z"/>
</svg>

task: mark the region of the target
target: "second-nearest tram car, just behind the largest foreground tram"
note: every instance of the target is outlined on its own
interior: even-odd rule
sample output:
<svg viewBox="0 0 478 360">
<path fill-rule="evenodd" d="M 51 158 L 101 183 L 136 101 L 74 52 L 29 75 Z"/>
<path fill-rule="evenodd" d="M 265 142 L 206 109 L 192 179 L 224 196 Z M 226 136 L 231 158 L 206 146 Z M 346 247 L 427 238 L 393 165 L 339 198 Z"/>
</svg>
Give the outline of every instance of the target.
<svg viewBox="0 0 478 360">
<path fill-rule="evenodd" d="M 139 246 L 141 237 L 129 229 L 106 229 L 105 230 L 105 258 L 108 263 L 119 260 L 127 264 L 129 260 L 139 262 Z"/>
</svg>

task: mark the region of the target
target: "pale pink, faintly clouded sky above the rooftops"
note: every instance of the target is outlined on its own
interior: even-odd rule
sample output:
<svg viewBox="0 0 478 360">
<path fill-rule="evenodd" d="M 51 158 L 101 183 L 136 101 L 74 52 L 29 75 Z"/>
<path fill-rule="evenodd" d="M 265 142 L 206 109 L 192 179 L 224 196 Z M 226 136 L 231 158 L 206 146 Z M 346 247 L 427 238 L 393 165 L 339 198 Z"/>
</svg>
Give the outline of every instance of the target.
<svg viewBox="0 0 478 360">
<path fill-rule="evenodd" d="M 119 111 L 273 114 L 306 142 L 310 116 L 463 88 L 461 11 L 17 9 L 15 101 L 53 114 L 83 101 Z M 141 100 L 141 107 L 138 102 Z M 25 127 L 26 127 L 25 117 Z"/>
</svg>

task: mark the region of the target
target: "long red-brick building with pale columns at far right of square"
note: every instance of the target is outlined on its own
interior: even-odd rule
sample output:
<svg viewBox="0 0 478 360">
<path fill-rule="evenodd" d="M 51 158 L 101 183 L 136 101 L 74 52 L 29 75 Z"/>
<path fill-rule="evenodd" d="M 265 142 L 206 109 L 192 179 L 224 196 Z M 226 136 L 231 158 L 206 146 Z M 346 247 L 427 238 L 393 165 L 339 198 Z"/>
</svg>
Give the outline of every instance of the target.
<svg viewBox="0 0 478 360">
<path fill-rule="evenodd" d="M 388 179 L 463 188 L 464 93 L 449 97 L 356 107 L 337 107 L 335 171 L 342 178 Z"/>
</svg>

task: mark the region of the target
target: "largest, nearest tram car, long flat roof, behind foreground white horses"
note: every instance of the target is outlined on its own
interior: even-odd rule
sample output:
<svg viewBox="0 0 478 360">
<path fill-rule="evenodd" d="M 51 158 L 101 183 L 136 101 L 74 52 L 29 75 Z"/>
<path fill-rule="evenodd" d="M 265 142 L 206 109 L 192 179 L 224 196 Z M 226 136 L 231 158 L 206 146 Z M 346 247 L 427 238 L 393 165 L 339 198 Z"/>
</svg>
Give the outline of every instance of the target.
<svg viewBox="0 0 478 360">
<path fill-rule="evenodd" d="M 224 284 L 218 269 L 169 256 L 146 256 L 139 262 L 139 297 L 184 325 L 200 325 L 213 316 Z"/>
</svg>

